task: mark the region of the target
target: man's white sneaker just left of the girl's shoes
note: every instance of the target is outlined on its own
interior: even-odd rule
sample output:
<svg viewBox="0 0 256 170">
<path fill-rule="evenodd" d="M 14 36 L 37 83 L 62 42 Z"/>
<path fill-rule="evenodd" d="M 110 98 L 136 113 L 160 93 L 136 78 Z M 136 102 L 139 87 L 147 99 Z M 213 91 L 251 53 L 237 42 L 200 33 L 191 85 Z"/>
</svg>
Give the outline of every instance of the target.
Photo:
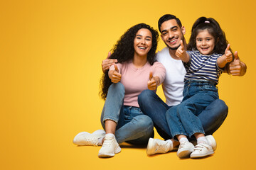
<svg viewBox="0 0 256 170">
<path fill-rule="evenodd" d="M 164 140 L 149 138 L 148 145 L 146 147 L 146 154 L 164 154 L 173 149 L 171 143 Z"/>
</svg>

